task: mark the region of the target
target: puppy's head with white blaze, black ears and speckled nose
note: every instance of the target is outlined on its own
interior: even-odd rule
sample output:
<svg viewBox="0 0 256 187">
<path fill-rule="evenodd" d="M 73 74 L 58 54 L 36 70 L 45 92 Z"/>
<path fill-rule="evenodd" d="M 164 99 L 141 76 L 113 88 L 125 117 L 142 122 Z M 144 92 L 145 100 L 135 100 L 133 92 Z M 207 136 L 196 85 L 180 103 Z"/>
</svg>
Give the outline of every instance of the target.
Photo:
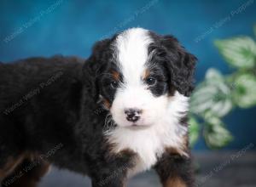
<svg viewBox="0 0 256 187">
<path fill-rule="evenodd" d="M 89 59 L 96 97 L 119 127 L 148 127 L 165 114 L 173 94 L 189 96 L 195 56 L 172 36 L 133 28 L 97 42 Z"/>
</svg>

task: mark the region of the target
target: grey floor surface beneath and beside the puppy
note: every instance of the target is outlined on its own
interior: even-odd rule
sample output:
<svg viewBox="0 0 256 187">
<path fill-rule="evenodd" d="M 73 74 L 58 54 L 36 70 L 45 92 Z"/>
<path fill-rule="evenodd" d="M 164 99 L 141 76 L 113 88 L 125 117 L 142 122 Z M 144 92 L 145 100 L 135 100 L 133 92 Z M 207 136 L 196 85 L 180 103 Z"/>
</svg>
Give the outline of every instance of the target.
<svg viewBox="0 0 256 187">
<path fill-rule="evenodd" d="M 195 187 L 256 187 L 256 152 L 196 153 L 200 166 Z M 90 187 L 90 179 L 53 168 L 39 187 Z M 128 187 L 160 187 L 154 171 L 131 178 Z"/>
</svg>

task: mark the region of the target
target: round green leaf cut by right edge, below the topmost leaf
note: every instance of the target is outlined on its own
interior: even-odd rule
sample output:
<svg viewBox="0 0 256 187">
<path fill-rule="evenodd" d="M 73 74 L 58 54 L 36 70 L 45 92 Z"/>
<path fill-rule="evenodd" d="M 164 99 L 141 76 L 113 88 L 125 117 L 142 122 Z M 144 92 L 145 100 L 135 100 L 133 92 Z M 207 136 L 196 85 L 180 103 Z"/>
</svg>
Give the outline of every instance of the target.
<svg viewBox="0 0 256 187">
<path fill-rule="evenodd" d="M 256 77 L 251 74 L 235 77 L 232 97 L 236 105 L 241 108 L 256 105 Z"/>
</svg>

